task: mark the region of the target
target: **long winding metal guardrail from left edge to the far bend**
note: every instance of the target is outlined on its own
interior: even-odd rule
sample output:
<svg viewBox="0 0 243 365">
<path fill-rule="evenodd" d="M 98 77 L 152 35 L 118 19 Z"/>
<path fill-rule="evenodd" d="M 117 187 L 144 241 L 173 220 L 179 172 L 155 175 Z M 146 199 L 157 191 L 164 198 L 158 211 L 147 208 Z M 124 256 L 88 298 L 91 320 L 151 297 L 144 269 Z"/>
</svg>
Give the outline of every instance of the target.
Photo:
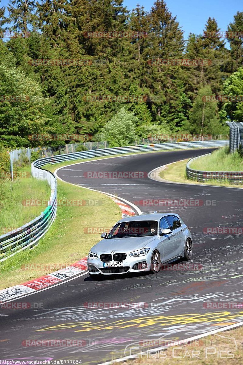
<svg viewBox="0 0 243 365">
<path fill-rule="evenodd" d="M 220 147 L 229 144 L 225 141 L 193 141 L 179 143 L 157 143 L 155 145 L 138 145 L 128 147 L 114 147 L 99 150 L 90 150 L 62 154 L 53 157 L 44 157 L 34 161 L 31 164 L 32 176 L 47 180 L 51 186 L 51 196 L 47 208 L 38 217 L 24 226 L 17 228 L 14 231 L 0 236 L 0 262 L 14 255 L 17 251 L 26 249 L 27 247 L 35 246 L 39 239 L 47 232 L 56 216 L 56 178 L 55 176 L 41 168 L 46 164 L 56 164 L 57 162 L 70 161 L 84 158 L 93 158 L 99 156 L 109 156 L 116 154 L 138 153 L 158 150 L 171 149 L 188 149 L 200 147 Z"/>
</svg>

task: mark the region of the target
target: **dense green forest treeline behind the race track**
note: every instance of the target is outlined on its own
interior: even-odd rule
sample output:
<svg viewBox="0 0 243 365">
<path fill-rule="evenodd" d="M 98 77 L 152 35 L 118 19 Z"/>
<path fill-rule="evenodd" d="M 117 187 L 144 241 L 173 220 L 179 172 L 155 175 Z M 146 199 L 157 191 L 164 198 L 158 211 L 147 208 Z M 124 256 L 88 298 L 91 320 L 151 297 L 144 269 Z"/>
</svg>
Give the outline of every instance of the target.
<svg viewBox="0 0 243 365">
<path fill-rule="evenodd" d="M 184 39 L 163 0 L 149 12 L 121 0 L 11 0 L 7 8 L 1 146 L 61 144 L 37 134 L 119 146 L 175 132 L 226 134 L 226 120 L 243 121 L 243 12 L 225 30 L 205 19 L 201 34 Z"/>
</svg>

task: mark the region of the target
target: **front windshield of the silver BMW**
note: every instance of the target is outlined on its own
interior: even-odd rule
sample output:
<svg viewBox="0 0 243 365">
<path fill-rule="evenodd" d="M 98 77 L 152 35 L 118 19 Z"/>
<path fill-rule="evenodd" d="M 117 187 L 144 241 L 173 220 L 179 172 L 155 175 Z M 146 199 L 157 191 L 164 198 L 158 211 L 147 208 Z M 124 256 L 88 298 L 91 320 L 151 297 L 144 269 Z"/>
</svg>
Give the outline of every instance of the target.
<svg viewBox="0 0 243 365">
<path fill-rule="evenodd" d="M 107 238 L 156 236 L 157 226 L 156 220 L 137 220 L 117 223 Z"/>
</svg>

